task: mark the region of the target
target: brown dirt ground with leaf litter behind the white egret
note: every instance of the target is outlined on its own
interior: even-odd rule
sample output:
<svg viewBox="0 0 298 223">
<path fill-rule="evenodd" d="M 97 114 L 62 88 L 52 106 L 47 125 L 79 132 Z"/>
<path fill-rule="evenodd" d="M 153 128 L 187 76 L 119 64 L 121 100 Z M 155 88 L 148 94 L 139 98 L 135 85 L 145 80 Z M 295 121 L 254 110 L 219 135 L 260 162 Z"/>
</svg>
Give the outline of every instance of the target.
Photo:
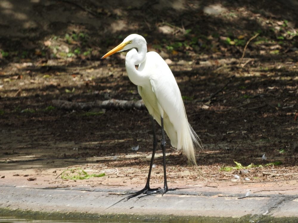
<svg viewBox="0 0 298 223">
<path fill-rule="evenodd" d="M 69 111 L 52 103 L 139 100 L 125 53 L 100 60 L 126 35 L 139 33 L 148 50 L 169 64 L 204 145 L 198 167 L 191 167 L 167 142 L 170 187 L 232 191 L 235 185 L 267 183 L 297 189 L 297 2 L 129 2 L 1 1 L 0 183 L 145 184 L 153 140 L 146 110 Z M 160 150 L 157 155 L 152 183 L 162 186 Z M 234 161 L 256 166 L 222 171 L 235 167 Z M 55 179 L 69 167 L 105 176 Z"/>
</svg>

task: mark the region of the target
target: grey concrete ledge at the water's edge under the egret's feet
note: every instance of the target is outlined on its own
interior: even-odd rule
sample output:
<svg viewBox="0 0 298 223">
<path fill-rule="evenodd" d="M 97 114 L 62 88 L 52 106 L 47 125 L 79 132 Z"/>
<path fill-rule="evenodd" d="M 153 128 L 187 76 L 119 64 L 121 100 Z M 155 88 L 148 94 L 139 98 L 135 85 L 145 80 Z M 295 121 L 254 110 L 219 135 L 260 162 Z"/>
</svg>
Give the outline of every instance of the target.
<svg viewBox="0 0 298 223">
<path fill-rule="evenodd" d="M 243 194 L 200 193 L 187 190 L 180 189 L 169 191 L 164 196 L 151 195 L 119 202 L 123 196 L 115 194 L 122 192 L 117 189 L 0 186 L 0 215 L 12 214 L 16 210 L 24 214 L 26 210 L 36 212 L 35 215 L 43 213 L 43 216 L 45 213 L 46 216 L 51 213 L 52 216 L 63 218 L 86 218 L 88 215 L 92 219 L 114 219 L 116 216 L 118 220 L 129 220 L 132 217 L 139 220 L 166 220 L 171 217 L 182 221 L 202 220 L 202 217 L 207 217 L 221 220 L 253 218 L 272 221 L 277 220 L 276 217 L 298 217 L 298 195 L 253 194 L 253 197 L 243 197 Z"/>
</svg>

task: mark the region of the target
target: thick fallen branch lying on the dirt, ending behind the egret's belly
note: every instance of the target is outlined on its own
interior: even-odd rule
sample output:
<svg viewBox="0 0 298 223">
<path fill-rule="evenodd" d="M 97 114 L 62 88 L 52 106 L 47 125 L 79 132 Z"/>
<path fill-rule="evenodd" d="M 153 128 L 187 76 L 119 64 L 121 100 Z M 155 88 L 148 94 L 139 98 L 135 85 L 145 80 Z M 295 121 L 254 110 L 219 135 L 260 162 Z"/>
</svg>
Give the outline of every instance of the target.
<svg viewBox="0 0 298 223">
<path fill-rule="evenodd" d="M 101 109 L 145 109 L 142 100 L 96 100 L 94 102 L 72 102 L 66 100 L 52 100 L 52 105 L 65 110 L 84 110 L 88 111 L 92 108 Z"/>
</svg>

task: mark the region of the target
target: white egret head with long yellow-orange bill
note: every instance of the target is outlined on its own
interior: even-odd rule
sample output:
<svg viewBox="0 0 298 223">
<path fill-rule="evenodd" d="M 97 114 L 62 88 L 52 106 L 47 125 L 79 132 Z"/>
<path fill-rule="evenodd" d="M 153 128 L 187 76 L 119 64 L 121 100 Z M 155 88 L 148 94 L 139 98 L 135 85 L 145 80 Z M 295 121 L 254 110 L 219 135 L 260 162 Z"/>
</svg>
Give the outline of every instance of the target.
<svg viewBox="0 0 298 223">
<path fill-rule="evenodd" d="M 147 44 L 144 37 L 138 34 L 130 34 L 126 37 L 122 43 L 116 46 L 114 49 L 106 53 L 101 59 L 111 56 L 114 53 L 121 52 L 124 50 L 129 50 L 131 48 L 138 48 L 142 44 Z"/>
</svg>

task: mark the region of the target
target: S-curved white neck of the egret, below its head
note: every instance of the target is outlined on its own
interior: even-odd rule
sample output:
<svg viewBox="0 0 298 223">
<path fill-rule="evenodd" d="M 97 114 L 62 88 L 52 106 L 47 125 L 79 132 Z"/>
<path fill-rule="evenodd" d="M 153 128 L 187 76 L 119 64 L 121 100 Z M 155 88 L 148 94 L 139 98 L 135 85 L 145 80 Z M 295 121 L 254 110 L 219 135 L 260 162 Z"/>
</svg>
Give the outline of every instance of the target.
<svg viewBox="0 0 298 223">
<path fill-rule="evenodd" d="M 135 65 L 140 65 L 142 63 L 146 63 L 146 54 L 147 54 L 147 46 L 140 45 L 138 47 L 138 51 L 135 48 L 131 49 L 125 58 L 125 66 L 126 71 L 128 73 L 128 78 L 133 82 L 135 85 L 145 85 L 150 81 L 146 78 L 146 75 L 141 72 L 141 70 L 137 70 Z"/>
</svg>

